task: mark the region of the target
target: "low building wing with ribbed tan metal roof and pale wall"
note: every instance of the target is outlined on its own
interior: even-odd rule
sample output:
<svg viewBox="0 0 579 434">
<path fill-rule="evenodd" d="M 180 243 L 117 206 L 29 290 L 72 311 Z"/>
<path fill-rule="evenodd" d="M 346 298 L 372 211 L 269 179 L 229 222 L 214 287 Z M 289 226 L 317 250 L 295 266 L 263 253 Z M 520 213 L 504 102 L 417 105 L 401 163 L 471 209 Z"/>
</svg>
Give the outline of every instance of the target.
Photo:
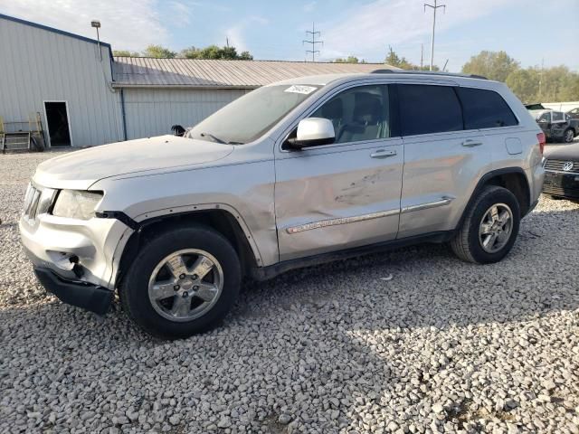
<svg viewBox="0 0 579 434">
<path fill-rule="evenodd" d="M 209 61 L 116 57 L 113 87 L 123 92 L 128 138 L 192 126 L 233 99 L 279 80 L 370 72 L 375 64 L 303 61 Z"/>
</svg>

